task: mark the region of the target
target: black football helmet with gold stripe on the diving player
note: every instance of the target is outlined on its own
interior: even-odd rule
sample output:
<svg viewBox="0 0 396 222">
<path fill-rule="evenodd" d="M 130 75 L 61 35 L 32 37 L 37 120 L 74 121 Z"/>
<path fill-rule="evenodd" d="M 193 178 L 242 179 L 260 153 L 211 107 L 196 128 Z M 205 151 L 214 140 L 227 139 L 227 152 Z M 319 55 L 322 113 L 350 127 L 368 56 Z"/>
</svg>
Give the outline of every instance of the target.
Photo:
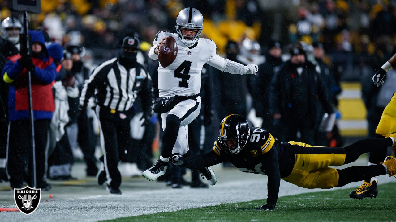
<svg viewBox="0 0 396 222">
<path fill-rule="evenodd" d="M 249 124 L 245 117 L 240 115 L 231 114 L 225 117 L 220 122 L 219 126 L 219 142 L 221 149 L 227 154 L 234 155 L 237 154 L 244 148 L 247 143 L 247 138 L 249 138 L 250 129 Z M 235 140 L 236 144 L 228 147 L 227 141 Z"/>
</svg>

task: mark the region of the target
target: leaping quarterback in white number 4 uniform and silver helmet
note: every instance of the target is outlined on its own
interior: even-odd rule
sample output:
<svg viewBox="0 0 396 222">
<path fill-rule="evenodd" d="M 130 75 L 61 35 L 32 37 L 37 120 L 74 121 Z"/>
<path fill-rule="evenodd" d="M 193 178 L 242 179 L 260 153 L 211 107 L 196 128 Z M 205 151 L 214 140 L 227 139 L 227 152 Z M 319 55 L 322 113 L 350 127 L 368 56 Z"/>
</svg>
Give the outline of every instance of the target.
<svg viewBox="0 0 396 222">
<path fill-rule="evenodd" d="M 177 43 L 175 61 L 164 68 L 159 64 L 158 89 L 160 98 L 154 105 L 154 111 L 161 113 L 163 149 L 160 158 L 143 176 L 155 180 L 164 175 L 172 153 L 184 155 L 188 151 L 187 125 L 198 117 L 201 109 L 201 70 L 205 63 L 221 71 L 232 74 L 256 74 L 255 64 L 244 66 L 222 58 L 216 54 L 216 44 L 210 39 L 200 38 L 204 19 L 195 8 L 185 8 L 176 19 L 176 32 L 158 32 L 154 38 L 148 56 L 158 59 L 158 50 L 164 40 L 172 36 Z M 160 107 L 158 111 L 156 107 Z M 216 183 L 215 174 L 208 168 L 200 169 L 211 185 Z"/>
</svg>

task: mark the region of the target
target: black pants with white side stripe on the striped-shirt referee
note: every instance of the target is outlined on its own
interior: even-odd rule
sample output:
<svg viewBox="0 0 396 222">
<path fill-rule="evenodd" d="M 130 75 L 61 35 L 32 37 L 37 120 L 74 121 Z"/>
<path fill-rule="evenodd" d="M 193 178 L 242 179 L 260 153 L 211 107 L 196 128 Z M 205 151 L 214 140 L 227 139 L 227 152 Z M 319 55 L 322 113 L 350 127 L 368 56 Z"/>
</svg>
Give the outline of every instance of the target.
<svg viewBox="0 0 396 222">
<path fill-rule="evenodd" d="M 99 119 L 103 152 L 103 158 L 100 159 L 103 160 L 107 184 L 113 189 L 118 189 L 121 184 L 121 174 L 117 166 L 131 140 L 130 122 L 133 110 L 111 112 L 107 107 L 97 106 L 96 115 Z"/>
</svg>

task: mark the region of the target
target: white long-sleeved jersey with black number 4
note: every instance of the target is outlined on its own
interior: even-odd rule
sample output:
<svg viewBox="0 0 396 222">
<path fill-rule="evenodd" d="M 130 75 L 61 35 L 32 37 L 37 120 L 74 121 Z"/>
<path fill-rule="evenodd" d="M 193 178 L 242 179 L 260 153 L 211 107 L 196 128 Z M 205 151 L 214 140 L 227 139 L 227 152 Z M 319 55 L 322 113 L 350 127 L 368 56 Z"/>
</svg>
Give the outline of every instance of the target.
<svg viewBox="0 0 396 222">
<path fill-rule="evenodd" d="M 158 68 L 158 90 L 160 97 L 190 96 L 200 93 L 201 91 L 201 70 L 205 63 L 218 68 L 222 71 L 228 71 L 234 74 L 245 74 L 244 65 L 232 62 L 228 59 L 221 58 L 216 54 L 216 44 L 214 41 L 206 38 L 199 38 L 198 44 L 189 49 L 180 40 L 177 34 L 162 31 L 158 32 L 153 47 L 150 49 L 149 56 L 157 59 L 158 55 L 153 53 L 153 49 L 162 38 L 172 36 L 177 43 L 177 56 L 175 61 L 168 67 L 164 68 L 159 65 Z M 197 98 L 199 100 L 199 98 Z M 200 102 L 200 101 L 198 101 Z"/>
</svg>

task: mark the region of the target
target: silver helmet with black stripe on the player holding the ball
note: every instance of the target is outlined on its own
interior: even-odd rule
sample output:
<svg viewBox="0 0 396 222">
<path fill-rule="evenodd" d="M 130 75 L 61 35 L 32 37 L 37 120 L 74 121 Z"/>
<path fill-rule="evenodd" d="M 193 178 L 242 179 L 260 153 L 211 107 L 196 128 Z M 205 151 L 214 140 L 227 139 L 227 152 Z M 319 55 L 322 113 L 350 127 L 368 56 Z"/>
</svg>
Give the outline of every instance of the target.
<svg viewBox="0 0 396 222">
<path fill-rule="evenodd" d="M 201 33 L 204 24 L 204 17 L 195 8 L 185 8 L 179 12 L 176 19 L 176 32 L 179 35 L 180 40 L 187 46 L 194 45 Z M 185 36 L 181 32 L 181 28 L 195 29 L 197 30 L 195 36 Z"/>
</svg>

